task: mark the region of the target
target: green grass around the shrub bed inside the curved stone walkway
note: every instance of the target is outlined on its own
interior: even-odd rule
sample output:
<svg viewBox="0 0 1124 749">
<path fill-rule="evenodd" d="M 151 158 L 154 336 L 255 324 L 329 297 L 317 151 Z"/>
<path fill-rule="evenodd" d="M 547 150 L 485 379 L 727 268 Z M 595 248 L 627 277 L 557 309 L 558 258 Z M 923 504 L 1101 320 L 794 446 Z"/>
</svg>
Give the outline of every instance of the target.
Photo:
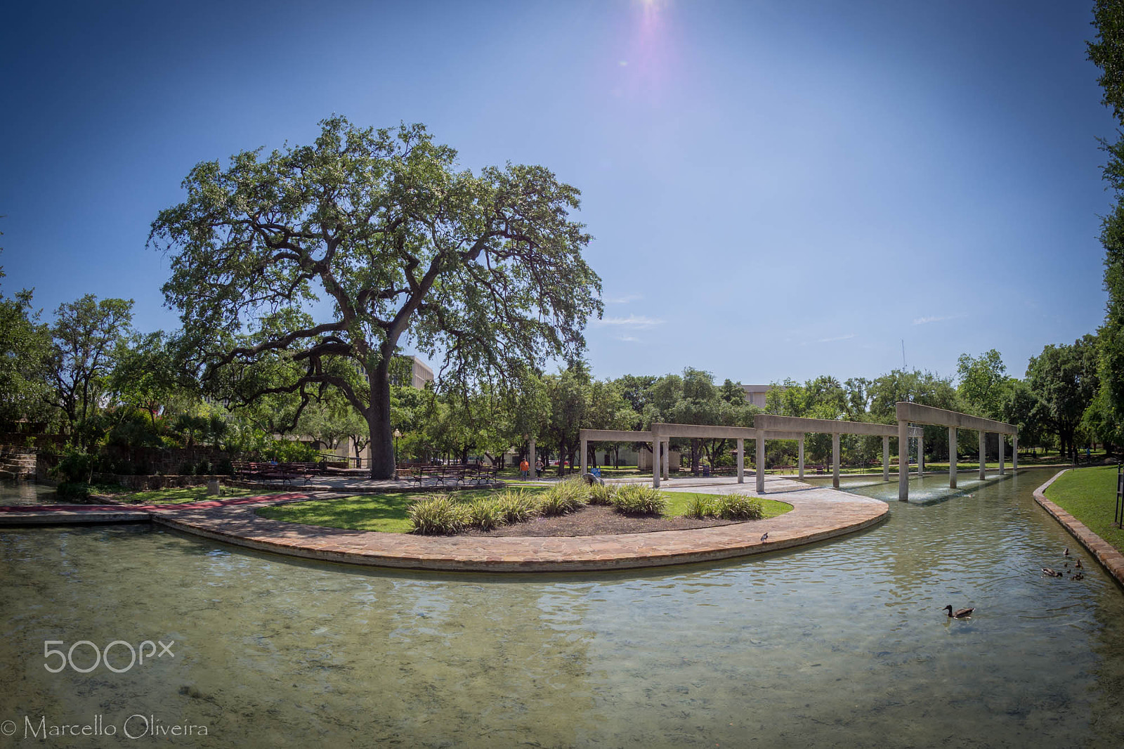
<svg viewBox="0 0 1124 749">
<path fill-rule="evenodd" d="M 543 485 L 519 486 L 526 491 L 544 491 Z M 478 497 L 497 494 L 495 489 L 463 489 L 455 493 L 457 499 L 469 502 Z M 410 518 L 406 511 L 415 499 L 424 494 L 368 494 L 338 499 L 314 499 L 262 507 L 257 514 L 270 520 L 288 523 L 306 523 L 327 527 L 344 527 L 353 531 L 381 531 L 383 533 L 409 533 Z M 692 497 L 714 496 L 685 491 L 664 491 L 668 499 L 667 515 L 682 515 Z M 792 505 L 773 499 L 762 499 L 765 517 L 787 513 Z"/>
</svg>

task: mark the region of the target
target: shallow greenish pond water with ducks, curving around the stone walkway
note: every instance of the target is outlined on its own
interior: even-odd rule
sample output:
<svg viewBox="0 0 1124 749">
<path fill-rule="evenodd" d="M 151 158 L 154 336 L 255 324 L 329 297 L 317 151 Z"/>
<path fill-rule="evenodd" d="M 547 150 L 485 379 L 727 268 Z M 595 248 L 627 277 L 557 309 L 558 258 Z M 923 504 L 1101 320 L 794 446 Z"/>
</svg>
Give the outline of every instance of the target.
<svg viewBox="0 0 1124 749">
<path fill-rule="evenodd" d="M 178 746 L 1120 747 L 1124 595 L 1084 553 L 1086 579 L 1042 577 L 1075 548 L 1031 498 L 1049 475 L 641 574 L 415 575 L 147 526 L 0 531 L 0 721 L 18 724 L 0 746 L 33 743 L 25 715 L 144 714 L 207 727 Z M 174 659 L 44 669 L 44 640 L 156 639 Z"/>
</svg>

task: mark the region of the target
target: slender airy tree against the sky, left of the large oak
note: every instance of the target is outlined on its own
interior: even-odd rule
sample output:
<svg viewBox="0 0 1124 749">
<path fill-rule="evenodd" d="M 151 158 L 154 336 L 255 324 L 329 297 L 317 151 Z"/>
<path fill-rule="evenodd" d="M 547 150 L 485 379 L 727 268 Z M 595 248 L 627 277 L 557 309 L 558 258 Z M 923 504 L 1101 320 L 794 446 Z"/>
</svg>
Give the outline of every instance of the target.
<svg viewBox="0 0 1124 749">
<path fill-rule="evenodd" d="M 114 355 L 120 350 L 133 322 L 132 299 L 102 299 L 88 294 L 55 310 L 51 327 L 54 352 L 49 363 L 52 405 L 66 418 L 70 433 L 82 446 L 89 439 L 76 427 L 92 416 Z"/>
</svg>

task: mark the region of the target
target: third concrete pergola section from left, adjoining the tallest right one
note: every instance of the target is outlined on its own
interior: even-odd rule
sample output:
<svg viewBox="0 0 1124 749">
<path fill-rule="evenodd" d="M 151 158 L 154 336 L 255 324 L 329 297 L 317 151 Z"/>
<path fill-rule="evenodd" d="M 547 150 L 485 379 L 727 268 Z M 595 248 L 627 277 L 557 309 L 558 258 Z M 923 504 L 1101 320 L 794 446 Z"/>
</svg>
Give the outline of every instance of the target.
<svg viewBox="0 0 1124 749">
<path fill-rule="evenodd" d="M 870 424 L 868 422 L 841 422 L 833 418 L 803 418 L 799 416 L 773 416 L 771 414 L 758 414 L 753 417 L 754 426 L 759 427 L 761 436 L 758 436 L 758 493 L 764 491 L 764 452 L 765 440 L 791 439 L 771 436 L 778 433 L 799 433 L 800 454 L 799 470 L 800 478 L 804 478 L 804 435 L 808 432 L 816 434 L 832 435 L 832 486 L 840 488 L 840 435 L 861 434 L 865 436 L 882 437 L 882 480 L 890 480 L 890 437 L 896 436 L 898 442 L 898 475 L 909 477 L 909 439 L 917 440 L 917 475 L 925 470 L 925 430 L 921 427 L 907 427 L 903 433 L 900 425 L 894 424 Z M 901 445 L 905 445 L 903 449 Z M 903 460 L 901 455 L 906 458 Z"/>
</svg>

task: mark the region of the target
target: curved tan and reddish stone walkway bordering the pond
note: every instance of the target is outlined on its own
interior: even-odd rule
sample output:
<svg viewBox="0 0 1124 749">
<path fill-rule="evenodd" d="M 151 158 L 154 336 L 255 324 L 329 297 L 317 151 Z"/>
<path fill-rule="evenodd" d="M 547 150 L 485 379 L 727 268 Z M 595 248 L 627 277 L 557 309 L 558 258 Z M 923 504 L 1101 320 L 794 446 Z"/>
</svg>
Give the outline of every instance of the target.
<svg viewBox="0 0 1124 749">
<path fill-rule="evenodd" d="M 720 479 L 719 479 L 720 481 Z M 708 482 L 709 493 L 753 494 L 736 480 Z M 153 522 L 185 533 L 251 549 L 294 557 L 377 567 L 429 570 L 542 572 L 660 567 L 729 559 L 813 543 L 869 527 L 885 520 L 889 506 L 877 499 L 769 478 L 767 496 L 792 505 L 778 517 L 687 531 L 658 531 L 593 536 L 418 536 L 406 533 L 347 531 L 259 517 L 259 507 L 309 498 L 302 493 L 242 497 L 185 505 L 130 506 Z M 690 490 L 698 486 L 669 487 Z M 54 509 L 49 509 L 54 507 Z M 19 514 L 123 512 L 45 506 L 37 512 L 0 507 L 0 523 Z M 75 509 L 81 507 L 81 511 Z M 768 538 L 762 540 L 762 535 Z"/>
</svg>

